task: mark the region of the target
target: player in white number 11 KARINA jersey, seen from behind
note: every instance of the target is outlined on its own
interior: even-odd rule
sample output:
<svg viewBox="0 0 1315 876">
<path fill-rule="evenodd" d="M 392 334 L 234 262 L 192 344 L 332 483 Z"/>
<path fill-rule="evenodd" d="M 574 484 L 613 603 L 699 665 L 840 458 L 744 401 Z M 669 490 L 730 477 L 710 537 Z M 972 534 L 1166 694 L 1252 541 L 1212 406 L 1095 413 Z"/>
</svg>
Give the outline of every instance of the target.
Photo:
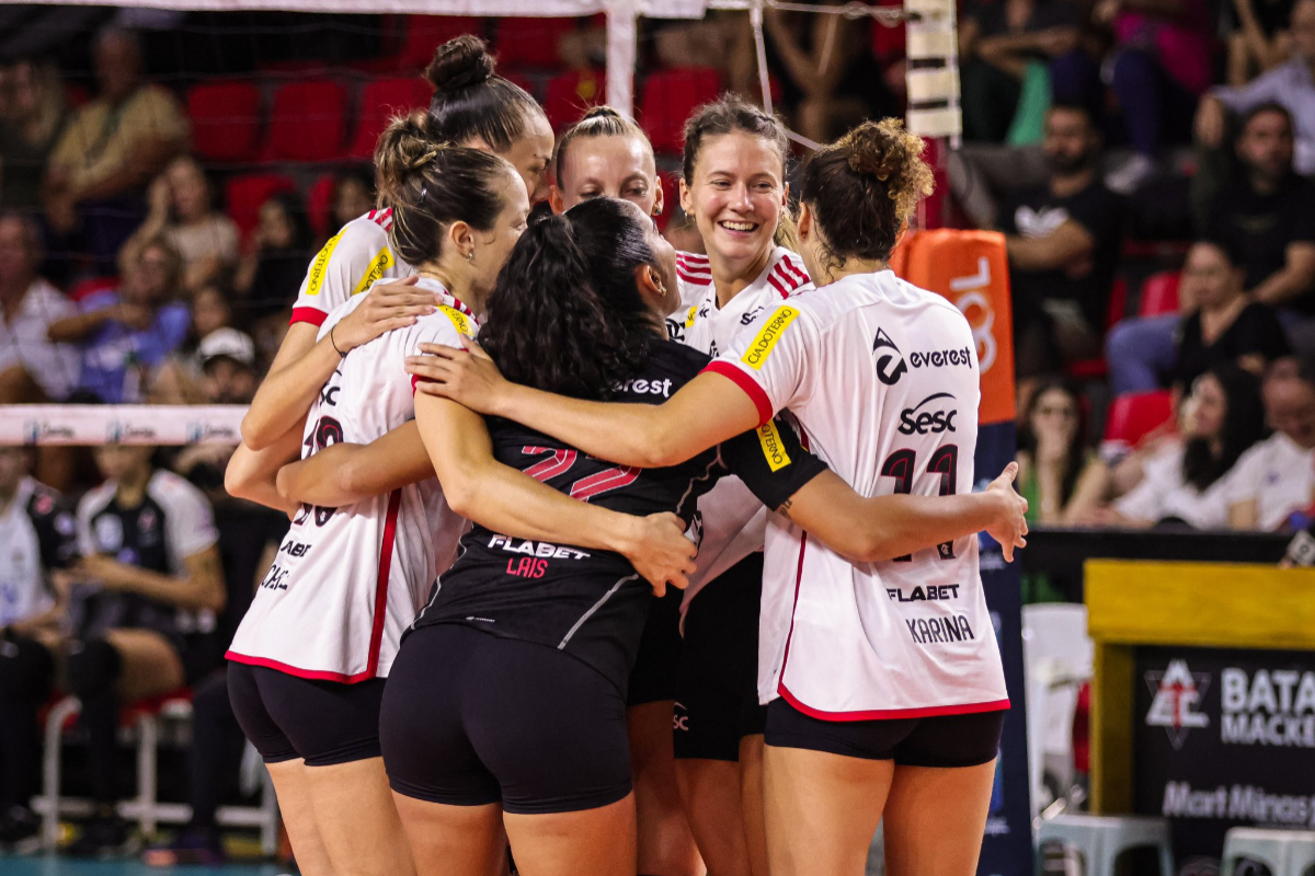
<svg viewBox="0 0 1315 876">
<path fill-rule="evenodd" d="M 886 269 L 931 189 L 922 148 L 886 120 L 817 152 L 798 232 L 822 285 L 760 314 L 661 406 L 509 385 L 455 349 L 431 357 L 425 389 L 623 465 L 679 462 L 789 407 L 809 447 L 865 495 L 964 494 L 980 401 L 972 331 L 947 301 Z M 967 876 L 1009 707 L 977 541 L 963 529 L 856 563 L 802 520 L 809 499 L 782 506 L 767 533 L 759 695 L 771 704 L 772 872 L 864 872 L 884 816 L 889 872 Z M 890 525 L 886 548 L 920 524 L 901 515 Z M 1013 559 L 1026 524 L 993 535 Z"/>
</svg>

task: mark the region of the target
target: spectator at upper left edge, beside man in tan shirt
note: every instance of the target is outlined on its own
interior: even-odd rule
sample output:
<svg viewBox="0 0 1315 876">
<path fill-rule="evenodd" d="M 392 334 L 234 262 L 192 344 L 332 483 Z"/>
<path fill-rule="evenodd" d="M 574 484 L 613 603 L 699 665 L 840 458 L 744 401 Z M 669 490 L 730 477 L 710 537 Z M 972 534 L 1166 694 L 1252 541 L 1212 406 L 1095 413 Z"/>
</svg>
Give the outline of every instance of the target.
<svg viewBox="0 0 1315 876">
<path fill-rule="evenodd" d="M 54 64 L 21 60 L 0 70 L 0 209 L 41 206 L 46 156 L 64 118 Z"/>
</svg>

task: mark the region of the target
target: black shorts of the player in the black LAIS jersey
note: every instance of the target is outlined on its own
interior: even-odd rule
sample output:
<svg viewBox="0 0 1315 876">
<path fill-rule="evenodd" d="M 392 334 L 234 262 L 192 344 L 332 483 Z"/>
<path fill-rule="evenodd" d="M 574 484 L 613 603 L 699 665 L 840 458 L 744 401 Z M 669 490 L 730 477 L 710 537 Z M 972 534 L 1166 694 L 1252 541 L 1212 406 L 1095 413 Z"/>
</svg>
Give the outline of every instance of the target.
<svg viewBox="0 0 1315 876">
<path fill-rule="evenodd" d="M 460 624 L 406 636 L 380 713 L 393 791 L 544 814 L 630 793 L 626 701 L 555 647 Z"/>
</svg>

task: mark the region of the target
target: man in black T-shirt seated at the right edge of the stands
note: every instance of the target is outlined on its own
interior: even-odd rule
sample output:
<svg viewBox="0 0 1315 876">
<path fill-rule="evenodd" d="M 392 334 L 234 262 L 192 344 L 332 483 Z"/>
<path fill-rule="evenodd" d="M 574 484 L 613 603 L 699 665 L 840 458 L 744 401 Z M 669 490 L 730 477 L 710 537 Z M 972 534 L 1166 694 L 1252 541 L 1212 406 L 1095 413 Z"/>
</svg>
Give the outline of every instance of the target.
<svg viewBox="0 0 1315 876">
<path fill-rule="evenodd" d="M 1252 109 L 1237 137 L 1237 159 L 1243 172 L 1215 200 L 1208 232 L 1236 243 L 1256 301 L 1311 323 L 1293 331 L 1297 345 L 1308 347 L 1315 343 L 1315 184 L 1293 171 L 1287 110 L 1279 104 Z"/>
</svg>

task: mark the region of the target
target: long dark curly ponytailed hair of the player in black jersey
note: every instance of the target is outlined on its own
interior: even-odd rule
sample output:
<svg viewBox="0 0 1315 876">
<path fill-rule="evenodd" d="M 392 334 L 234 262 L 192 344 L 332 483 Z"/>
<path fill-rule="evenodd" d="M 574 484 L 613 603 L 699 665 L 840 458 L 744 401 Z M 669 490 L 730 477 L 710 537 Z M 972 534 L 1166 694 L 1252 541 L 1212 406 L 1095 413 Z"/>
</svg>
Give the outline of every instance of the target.
<svg viewBox="0 0 1315 876">
<path fill-rule="evenodd" d="M 647 234 L 633 205 L 590 198 L 521 235 L 480 328 L 508 380 L 600 399 L 639 373 L 660 328 L 635 285 Z"/>
</svg>

